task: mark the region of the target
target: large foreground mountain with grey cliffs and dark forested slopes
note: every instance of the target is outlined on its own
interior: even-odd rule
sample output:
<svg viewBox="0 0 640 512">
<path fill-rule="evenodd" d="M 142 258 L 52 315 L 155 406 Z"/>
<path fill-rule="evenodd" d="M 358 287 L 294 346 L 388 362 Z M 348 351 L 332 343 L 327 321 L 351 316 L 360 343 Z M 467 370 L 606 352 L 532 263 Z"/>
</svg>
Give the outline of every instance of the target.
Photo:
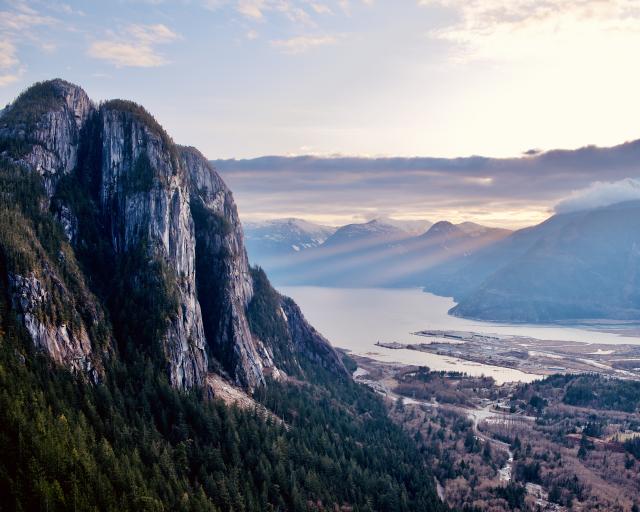
<svg viewBox="0 0 640 512">
<path fill-rule="evenodd" d="M 0 117 L 0 191 L 0 508 L 445 508 L 143 107 L 35 84 Z"/>
</svg>

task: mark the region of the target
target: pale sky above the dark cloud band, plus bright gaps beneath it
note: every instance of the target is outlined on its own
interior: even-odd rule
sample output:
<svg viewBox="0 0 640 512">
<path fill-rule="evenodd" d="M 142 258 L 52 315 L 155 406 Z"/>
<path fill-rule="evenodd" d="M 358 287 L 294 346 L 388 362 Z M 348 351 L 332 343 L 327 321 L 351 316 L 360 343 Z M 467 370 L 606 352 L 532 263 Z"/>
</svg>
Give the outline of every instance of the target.
<svg viewBox="0 0 640 512">
<path fill-rule="evenodd" d="M 0 0 L 0 105 L 61 77 L 143 104 L 211 159 L 514 159 L 639 138 L 639 50 L 638 0 Z M 466 216 L 530 223 L 561 193 L 486 193 Z M 398 215 L 463 216 L 412 204 Z M 389 209 L 359 208 L 332 220 Z"/>
</svg>

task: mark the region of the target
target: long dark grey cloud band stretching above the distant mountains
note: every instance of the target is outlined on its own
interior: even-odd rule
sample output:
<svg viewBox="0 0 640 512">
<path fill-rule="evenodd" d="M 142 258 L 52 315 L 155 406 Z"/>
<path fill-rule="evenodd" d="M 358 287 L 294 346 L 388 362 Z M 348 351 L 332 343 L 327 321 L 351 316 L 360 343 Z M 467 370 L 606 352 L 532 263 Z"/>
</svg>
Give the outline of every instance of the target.
<svg viewBox="0 0 640 512">
<path fill-rule="evenodd" d="M 344 223 L 385 214 L 514 228 L 541 222 L 595 181 L 638 176 L 638 161 L 640 141 L 507 159 L 274 156 L 214 166 L 244 218 Z"/>
</svg>

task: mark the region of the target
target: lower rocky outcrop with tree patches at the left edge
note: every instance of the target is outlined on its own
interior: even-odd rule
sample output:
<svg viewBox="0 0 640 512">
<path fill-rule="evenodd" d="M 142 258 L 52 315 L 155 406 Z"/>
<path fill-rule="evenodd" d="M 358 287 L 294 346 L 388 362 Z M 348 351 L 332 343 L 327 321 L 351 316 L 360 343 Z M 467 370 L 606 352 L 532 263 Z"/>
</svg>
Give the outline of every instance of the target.
<svg viewBox="0 0 640 512">
<path fill-rule="evenodd" d="M 0 304 L 10 306 L 37 348 L 95 382 L 112 352 L 103 307 L 89 290 L 55 221 L 47 222 L 40 215 L 30 225 L 18 205 L 6 204 L 16 185 L 11 178 L 32 171 L 18 168 L 12 176 L 2 164 L 5 162 L 0 161 Z M 21 187 L 25 197 L 41 207 L 46 200 L 43 188 Z M 49 228 L 52 233 L 46 232 Z M 43 240 L 34 237 L 34 232 L 42 232 Z"/>
</svg>

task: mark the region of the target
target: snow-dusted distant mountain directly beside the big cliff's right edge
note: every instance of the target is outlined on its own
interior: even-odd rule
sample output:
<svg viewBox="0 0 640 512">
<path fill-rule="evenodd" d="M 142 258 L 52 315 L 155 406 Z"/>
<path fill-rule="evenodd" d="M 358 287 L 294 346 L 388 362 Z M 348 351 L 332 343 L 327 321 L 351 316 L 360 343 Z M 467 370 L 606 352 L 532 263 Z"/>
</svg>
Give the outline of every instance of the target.
<svg viewBox="0 0 640 512">
<path fill-rule="evenodd" d="M 321 245 L 336 230 L 294 218 L 244 222 L 243 227 L 249 257 L 266 268 L 271 260 Z"/>
</svg>

